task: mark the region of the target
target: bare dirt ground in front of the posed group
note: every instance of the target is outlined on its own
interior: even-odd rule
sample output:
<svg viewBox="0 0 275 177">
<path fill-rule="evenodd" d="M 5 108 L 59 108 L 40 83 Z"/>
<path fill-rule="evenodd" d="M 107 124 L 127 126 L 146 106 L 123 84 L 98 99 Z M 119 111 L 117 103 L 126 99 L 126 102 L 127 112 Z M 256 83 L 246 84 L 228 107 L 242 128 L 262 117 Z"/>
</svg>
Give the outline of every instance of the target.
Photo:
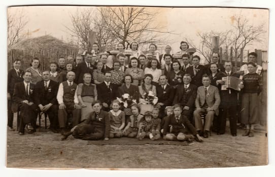
<svg viewBox="0 0 275 177">
<path fill-rule="evenodd" d="M 16 120 L 16 119 L 15 119 Z M 44 122 L 42 122 L 42 125 Z M 14 122 L 16 125 L 16 122 Z M 48 124 L 49 125 L 49 124 Z M 203 143 L 177 145 L 88 145 L 74 139 L 60 141 L 61 135 L 50 130 L 19 136 L 8 131 L 7 167 L 15 168 L 202 168 L 265 165 L 265 130 L 255 137 L 243 137 L 238 129 L 232 137 L 214 132 Z"/>
</svg>

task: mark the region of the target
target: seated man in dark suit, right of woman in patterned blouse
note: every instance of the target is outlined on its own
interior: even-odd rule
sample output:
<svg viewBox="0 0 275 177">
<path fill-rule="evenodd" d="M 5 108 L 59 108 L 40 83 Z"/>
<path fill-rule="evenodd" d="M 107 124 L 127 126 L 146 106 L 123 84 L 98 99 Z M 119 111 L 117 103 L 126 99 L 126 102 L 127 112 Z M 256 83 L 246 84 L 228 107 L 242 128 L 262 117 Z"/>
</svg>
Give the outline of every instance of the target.
<svg viewBox="0 0 275 177">
<path fill-rule="evenodd" d="M 102 103 L 102 110 L 109 111 L 110 105 L 113 100 L 117 97 L 117 91 L 115 90 L 115 85 L 110 82 L 111 73 L 105 73 L 104 82 L 96 85 L 97 90 L 97 100 Z"/>
</svg>

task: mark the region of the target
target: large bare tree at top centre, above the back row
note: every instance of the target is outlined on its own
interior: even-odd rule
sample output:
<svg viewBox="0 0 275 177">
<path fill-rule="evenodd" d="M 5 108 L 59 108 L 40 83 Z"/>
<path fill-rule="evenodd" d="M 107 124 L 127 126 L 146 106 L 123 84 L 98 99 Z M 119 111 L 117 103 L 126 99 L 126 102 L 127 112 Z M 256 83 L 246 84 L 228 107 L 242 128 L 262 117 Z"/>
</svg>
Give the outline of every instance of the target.
<svg viewBox="0 0 275 177">
<path fill-rule="evenodd" d="M 157 12 L 150 12 L 147 8 L 121 7 L 99 8 L 102 24 L 114 40 L 126 45 L 133 40 L 139 43 L 170 42 L 164 35 L 170 32 L 163 31 L 164 27 L 155 24 Z"/>
</svg>

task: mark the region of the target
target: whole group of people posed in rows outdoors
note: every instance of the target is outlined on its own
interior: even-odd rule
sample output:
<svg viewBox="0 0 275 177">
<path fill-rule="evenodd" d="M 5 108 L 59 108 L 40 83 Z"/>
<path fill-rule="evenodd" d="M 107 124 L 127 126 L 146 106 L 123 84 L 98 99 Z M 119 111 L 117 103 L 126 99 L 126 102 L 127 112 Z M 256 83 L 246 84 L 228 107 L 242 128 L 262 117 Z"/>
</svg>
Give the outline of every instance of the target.
<svg viewBox="0 0 275 177">
<path fill-rule="evenodd" d="M 159 55 L 154 43 L 146 55 L 136 41 L 130 52 L 124 43 L 116 52 L 112 43 L 106 46 L 99 53 L 94 43 L 91 52 L 76 59 L 60 57 L 45 71 L 40 71 L 38 58 L 25 71 L 14 60 L 8 73 L 9 130 L 14 130 L 13 113 L 20 111 L 19 135 L 35 132 L 38 114 L 45 113 L 49 129 L 60 132 L 61 140 L 73 135 L 83 140 L 125 136 L 201 142 L 211 130 L 225 134 L 227 118 L 232 136 L 237 135 L 237 121 L 246 127 L 243 136 L 254 136 L 262 89 L 256 53 L 233 73 L 232 63 L 219 63 L 218 53 L 210 64 L 200 65 L 185 41 L 176 55 L 169 45 Z M 239 90 L 226 87 L 228 76 L 240 80 Z"/>
</svg>

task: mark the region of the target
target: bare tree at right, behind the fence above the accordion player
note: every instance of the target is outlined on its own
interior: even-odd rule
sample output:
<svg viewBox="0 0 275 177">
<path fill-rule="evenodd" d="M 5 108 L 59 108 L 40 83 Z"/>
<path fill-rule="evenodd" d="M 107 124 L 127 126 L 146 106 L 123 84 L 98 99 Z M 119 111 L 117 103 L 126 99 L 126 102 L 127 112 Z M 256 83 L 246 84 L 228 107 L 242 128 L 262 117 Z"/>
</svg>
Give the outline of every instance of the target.
<svg viewBox="0 0 275 177">
<path fill-rule="evenodd" d="M 233 19 L 232 29 L 217 32 L 210 31 L 204 33 L 198 33 L 199 45 L 195 45 L 194 41 L 184 37 L 184 39 L 189 43 L 189 46 L 195 48 L 199 54 L 201 54 L 207 62 L 210 62 L 211 54 L 213 53 L 213 36 L 220 36 L 219 47 L 228 49 L 228 47 L 233 47 L 233 55 L 235 51 L 238 51 L 237 58 L 240 57 L 240 50 L 251 45 L 253 42 L 262 42 L 262 34 L 266 31 L 264 30 L 264 23 L 255 26 L 251 22 L 242 16 L 234 15 L 231 17 Z M 227 50 L 224 50 L 226 53 Z"/>
</svg>

